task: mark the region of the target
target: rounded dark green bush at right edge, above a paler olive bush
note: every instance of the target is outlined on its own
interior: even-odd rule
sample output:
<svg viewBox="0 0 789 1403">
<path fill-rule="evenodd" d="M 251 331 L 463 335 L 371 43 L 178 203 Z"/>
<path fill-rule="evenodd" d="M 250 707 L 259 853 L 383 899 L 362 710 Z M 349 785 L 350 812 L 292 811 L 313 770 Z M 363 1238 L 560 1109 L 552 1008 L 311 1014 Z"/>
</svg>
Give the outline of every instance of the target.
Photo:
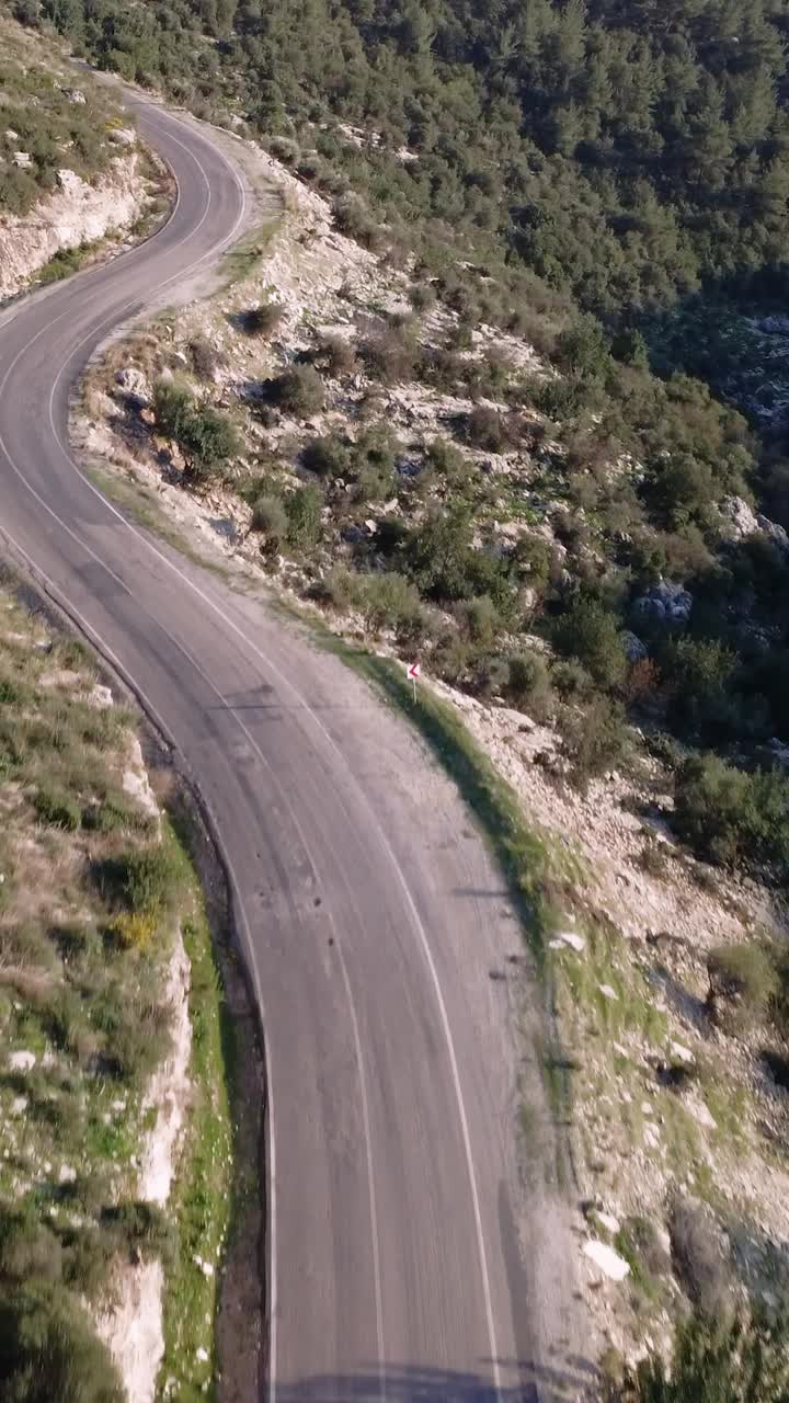
<svg viewBox="0 0 789 1403">
<path fill-rule="evenodd" d="M 694 755 L 674 786 L 674 826 L 698 856 L 789 868 L 789 777 L 737 770 L 716 755 Z"/>
</svg>

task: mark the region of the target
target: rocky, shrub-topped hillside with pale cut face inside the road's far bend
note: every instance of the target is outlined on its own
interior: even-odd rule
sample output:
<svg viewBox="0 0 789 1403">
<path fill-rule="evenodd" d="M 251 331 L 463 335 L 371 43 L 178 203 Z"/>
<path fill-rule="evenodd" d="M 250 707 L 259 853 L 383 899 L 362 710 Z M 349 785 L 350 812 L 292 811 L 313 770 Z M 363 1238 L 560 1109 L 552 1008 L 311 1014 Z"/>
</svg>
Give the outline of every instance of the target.
<svg viewBox="0 0 789 1403">
<path fill-rule="evenodd" d="M 163 174 L 110 91 L 0 8 L 0 300 L 154 217 Z"/>
</svg>

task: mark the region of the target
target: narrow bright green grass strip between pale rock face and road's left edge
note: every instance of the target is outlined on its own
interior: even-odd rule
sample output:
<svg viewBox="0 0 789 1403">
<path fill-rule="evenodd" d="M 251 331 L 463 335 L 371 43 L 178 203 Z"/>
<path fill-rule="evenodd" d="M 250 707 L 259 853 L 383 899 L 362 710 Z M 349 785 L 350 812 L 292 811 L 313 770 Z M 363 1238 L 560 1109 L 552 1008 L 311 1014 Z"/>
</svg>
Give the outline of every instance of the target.
<svg viewBox="0 0 789 1403">
<path fill-rule="evenodd" d="M 190 1128 L 170 1201 L 177 1251 L 167 1273 L 164 1358 L 159 1396 L 197 1403 L 213 1397 L 219 1263 L 230 1221 L 233 1181 L 229 1065 L 233 1041 L 202 895 L 192 878 L 183 923 L 191 964 L 192 1026 Z"/>
</svg>

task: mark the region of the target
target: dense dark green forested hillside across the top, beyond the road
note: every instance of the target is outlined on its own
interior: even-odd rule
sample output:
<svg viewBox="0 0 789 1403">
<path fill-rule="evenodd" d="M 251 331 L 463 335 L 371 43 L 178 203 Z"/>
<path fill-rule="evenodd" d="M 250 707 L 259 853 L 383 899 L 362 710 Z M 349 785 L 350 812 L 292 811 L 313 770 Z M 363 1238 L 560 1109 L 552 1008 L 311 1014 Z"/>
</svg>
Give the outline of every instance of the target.
<svg viewBox="0 0 789 1403">
<path fill-rule="evenodd" d="M 329 112 L 373 129 L 350 174 L 389 217 L 462 229 L 604 316 L 786 255 L 785 0 L 42 8 L 100 63 L 184 95 L 197 74 L 267 135 Z"/>
</svg>

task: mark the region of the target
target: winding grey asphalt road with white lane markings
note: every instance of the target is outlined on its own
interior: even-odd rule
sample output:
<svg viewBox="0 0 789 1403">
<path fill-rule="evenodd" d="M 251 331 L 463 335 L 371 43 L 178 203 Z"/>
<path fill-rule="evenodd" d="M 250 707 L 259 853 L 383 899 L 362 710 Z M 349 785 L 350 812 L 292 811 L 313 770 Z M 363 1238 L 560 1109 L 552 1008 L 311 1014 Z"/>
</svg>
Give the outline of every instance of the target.
<svg viewBox="0 0 789 1403">
<path fill-rule="evenodd" d="M 243 217 L 211 135 L 136 107 L 177 206 L 0 330 L 0 528 L 132 680 L 229 861 L 271 1092 L 261 1397 L 531 1397 L 563 1301 L 545 1223 L 522 1229 L 512 993 L 490 978 L 518 948 L 501 878 L 361 682 L 126 522 L 69 456 L 91 352 Z"/>
</svg>

